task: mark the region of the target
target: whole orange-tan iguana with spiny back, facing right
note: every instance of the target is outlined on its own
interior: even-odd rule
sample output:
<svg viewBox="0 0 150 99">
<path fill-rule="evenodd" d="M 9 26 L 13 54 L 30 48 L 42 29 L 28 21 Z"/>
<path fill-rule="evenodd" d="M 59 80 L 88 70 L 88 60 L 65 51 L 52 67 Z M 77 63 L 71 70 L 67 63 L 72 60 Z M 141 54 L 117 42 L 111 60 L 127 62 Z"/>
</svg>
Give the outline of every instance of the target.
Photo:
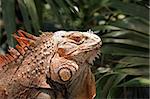
<svg viewBox="0 0 150 99">
<path fill-rule="evenodd" d="M 0 99 L 93 99 L 95 80 L 90 64 L 101 39 L 91 31 L 43 32 L 22 30 L 19 44 L 0 56 Z"/>
</svg>

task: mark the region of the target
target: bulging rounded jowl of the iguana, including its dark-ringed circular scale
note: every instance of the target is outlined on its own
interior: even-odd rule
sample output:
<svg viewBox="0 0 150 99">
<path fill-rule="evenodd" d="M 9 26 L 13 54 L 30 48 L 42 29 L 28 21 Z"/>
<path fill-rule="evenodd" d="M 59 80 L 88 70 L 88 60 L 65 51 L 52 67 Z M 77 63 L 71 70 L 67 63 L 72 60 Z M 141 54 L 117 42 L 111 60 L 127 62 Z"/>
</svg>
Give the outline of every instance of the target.
<svg viewBox="0 0 150 99">
<path fill-rule="evenodd" d="M 79 69 L 76 62 L 60 57 L 58 54 L 53 57 L 50 65 L 49 77 L 62 84 L 70 81 Z"/>
</svg>

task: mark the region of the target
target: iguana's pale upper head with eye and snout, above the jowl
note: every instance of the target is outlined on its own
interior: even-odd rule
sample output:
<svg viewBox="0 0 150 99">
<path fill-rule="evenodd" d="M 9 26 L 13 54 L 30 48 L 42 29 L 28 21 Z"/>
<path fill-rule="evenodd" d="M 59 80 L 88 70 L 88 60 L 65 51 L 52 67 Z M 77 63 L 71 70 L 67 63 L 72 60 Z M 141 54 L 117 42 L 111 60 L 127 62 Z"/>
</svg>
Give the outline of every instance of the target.
<svg viewBox="0 0 150 99">
<path fill-rule="evenodd" d="M 57 31 L 52 38 L 57 44 L 58 54 L 76 62 L 92 63 L 102 45 L 101 39 L 90 31 Z"/>
</svg>

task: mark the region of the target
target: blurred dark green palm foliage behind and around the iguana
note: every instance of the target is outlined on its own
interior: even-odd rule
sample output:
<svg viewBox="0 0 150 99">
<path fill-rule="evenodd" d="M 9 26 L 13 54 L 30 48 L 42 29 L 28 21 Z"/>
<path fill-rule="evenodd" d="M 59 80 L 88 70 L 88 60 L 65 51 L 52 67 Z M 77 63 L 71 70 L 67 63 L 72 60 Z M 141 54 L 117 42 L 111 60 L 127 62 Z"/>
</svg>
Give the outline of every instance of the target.
<svg viewBox="0 0 150 99">
<path fill-rule="evenodd" d="M 149 0 L 0 0 L 0 51 L 18 29 L 93 30 L 102 38 L 92 67 L 96 99 L 148 99 Z"/>
</svg>

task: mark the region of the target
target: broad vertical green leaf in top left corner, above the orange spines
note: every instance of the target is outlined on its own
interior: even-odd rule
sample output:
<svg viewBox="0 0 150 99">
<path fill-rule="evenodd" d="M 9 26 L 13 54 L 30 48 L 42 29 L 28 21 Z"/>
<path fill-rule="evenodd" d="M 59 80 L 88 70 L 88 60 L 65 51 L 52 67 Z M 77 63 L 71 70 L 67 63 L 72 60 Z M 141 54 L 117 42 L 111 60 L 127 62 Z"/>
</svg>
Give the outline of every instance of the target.
<svg viewBox="0 0 150 99">
<path fill-rule="evenodd" d="M 9 46 L 14 46 L 13 37 L 11 35 L 16 31 L 14 0 L 2 0 L 2 14 L 5 30 L 7 32 L 7 42 Z"/>
</svg>

